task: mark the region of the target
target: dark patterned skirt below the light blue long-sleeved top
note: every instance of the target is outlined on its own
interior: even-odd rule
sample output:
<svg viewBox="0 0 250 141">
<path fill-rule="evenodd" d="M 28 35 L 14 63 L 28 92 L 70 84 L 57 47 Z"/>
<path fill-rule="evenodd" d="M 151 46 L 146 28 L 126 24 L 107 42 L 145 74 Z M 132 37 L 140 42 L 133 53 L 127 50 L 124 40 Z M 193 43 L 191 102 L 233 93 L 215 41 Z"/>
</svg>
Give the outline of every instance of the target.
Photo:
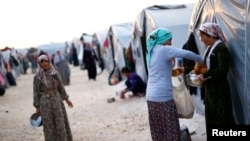
<svg viewBox="0 0 250 141">
<path fill-rule="evenodd" d="M 153 141 L 179 141 L 180 123 L 174 100 L 147 101 L 150 132 Z"/>
</svg>

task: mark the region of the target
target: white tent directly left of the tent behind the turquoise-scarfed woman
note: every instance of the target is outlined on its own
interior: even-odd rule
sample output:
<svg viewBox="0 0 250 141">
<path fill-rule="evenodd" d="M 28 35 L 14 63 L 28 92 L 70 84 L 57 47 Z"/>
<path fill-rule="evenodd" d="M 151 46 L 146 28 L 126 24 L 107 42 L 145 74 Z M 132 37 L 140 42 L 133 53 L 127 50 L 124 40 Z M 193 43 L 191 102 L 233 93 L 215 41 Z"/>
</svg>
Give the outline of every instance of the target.
<svg viewBox="0 0 250 141">
<path fill-rule="evenodd" d="M 109 84 L 117 84 L 123 78 L 120 70 L 125 66 L 124 52 L 132 38 L 132 22 L 111 25 L 108 33 L 108 47 L 106 48 L 106 67 L 110 72 Z"/>
</svg>

